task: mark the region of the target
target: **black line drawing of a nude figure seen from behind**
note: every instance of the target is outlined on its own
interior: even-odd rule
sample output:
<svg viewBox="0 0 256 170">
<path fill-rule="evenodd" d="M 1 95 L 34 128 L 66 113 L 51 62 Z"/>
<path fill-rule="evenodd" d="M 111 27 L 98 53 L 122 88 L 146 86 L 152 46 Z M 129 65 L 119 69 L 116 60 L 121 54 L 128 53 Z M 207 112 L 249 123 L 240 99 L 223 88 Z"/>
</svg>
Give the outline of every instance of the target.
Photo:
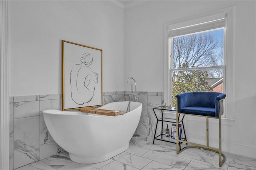
<svg viewBox="0 0 256 170">
<path fill-rule="evenodd" d="M 78 105 L 83 105 L 90 102 L 94 96 L 98 74 L 90 67 L 93 61 L 90 53 L 84 53 L 80 61 L 81 63 L 75 64 L 70 71 L 70 85 L 72 100 Z"/>
</svg>

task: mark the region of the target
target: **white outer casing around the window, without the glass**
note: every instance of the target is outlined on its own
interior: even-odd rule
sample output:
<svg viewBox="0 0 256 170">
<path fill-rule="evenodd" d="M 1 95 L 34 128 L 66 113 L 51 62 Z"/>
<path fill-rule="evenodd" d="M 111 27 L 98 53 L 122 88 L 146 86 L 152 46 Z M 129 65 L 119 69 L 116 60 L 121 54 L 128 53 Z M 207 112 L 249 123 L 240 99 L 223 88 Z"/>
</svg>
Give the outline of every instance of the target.
<svg viewBox="0 0 256 170">
<path fill-rule="evenodd" d="M 164 103 L 166 105 L 170 105 L 171 102 L 170 62 L 172 57 L 169 55 L 169 27 L 198 24 L 198 22 L 205 22 L 205 20 L 210 20 L 213 16 L 222 13 L 226 14 L 226 28 L 224 29 L 224 35 L 226 36 L 224 38 L 224 65 L 226 67 L 223 68 L 223 75 L 226 77 L 226 79 L 223 79 L 226 99 L 224 100 L 225 115 L 223 117 L 232 119 L 232 113 L 234 113 L 234 107 L 231 107 L 234 99 L 234 7 L 164 24 Z"/>
</svg>

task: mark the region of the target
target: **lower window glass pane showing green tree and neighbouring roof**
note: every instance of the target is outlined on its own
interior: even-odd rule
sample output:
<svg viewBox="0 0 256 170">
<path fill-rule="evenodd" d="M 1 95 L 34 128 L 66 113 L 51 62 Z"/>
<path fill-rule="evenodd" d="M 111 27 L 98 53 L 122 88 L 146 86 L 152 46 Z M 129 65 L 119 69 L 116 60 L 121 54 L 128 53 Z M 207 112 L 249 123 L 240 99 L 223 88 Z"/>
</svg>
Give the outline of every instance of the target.
<svg viewBox="0 0 256 170">
<path fill-rule="evenodd" d="M 193 91 L 215 91 L 223 93 L 223 69 L 195 69 L 172 71 L 172 106 L 175 95 Z"/>
</svg>

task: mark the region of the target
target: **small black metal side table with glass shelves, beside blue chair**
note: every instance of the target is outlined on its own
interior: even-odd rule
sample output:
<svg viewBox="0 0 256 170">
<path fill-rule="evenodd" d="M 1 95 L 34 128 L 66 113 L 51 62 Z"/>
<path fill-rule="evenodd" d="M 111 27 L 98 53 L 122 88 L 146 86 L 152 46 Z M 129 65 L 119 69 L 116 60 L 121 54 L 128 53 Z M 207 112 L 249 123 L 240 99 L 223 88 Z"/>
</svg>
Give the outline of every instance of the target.
<svg viewBox="0 0 256 170">
<path fill-rule="evenodd" d="M 158 117 L 158 116 L 156 115 L 156 112 L 155 112 L 156 110 L 160 110 L 160 111 L 161 111 L 162 117 Z M 174 108 L 168 108 L 168 107 L 165 107 L 165 108 L 164 108 L 164 106 L 159 106 L 159 107 L 154 107 L 154 108 L 153 108 L 153 111 L 154 111 L 154 114 L 155 114 L 156 119 L 157 119 L 157 121 L 156 121 L 156 129 L 157 129 L 157 127 L 158 127 L 158 122 L 160 121 L 160 122 L 162 123 L 162 125 L 161 125 L 161 134 L 159 134 L 158 136 L 156 136 L 156 129 L 155 129 L 153 144 L 154 144 L 155 140 L 162 140 L 162 141 L 165 141 L 165 142 L 176 143 L 176 139 L 171 138 L 171 128 L 172 128 L 172 127 L 169 128 L 169 129 L 170 129 L 170 137 L 166 137 L 166 136 L 165 136 L 165 132 L 163 132 L 163 122 L 169 122 L 169 123 L 175 123 L 175 124 L 176 124 L 176 119 L 165 118 L 165 117 L 164 117 L 164 114 L 163 114 L 163 111 L 175 111 L 175 112 L 176 112 L 176 110 L 175 110 Z M 168 113 L 166 113 L 166 114 L 168 114 Z M 178 119 L 179 119 L 179 124 L 182 125 L 183 133 L 184 133 L 184 138 L 182 138 L 182 140 L 187 141 L 186 132 L 185 132 L 184 124 L 183 124 L 184 116 L 185 116 L 185 115 L 182 115 L 182 117 L 181 117 L 181 119 L 180 119 L 180 115 L 179 115 Z M 165 130 L 165 128 L 164 128 L 164 130 Z M 183 143 L 183 142 L 179 142 L 179 146 L 180 146 L 180 144 L 182 144 L 182 143 Z M 180 150 L 181 150 L 181 147 L 180 147 Z"/>
</svg>

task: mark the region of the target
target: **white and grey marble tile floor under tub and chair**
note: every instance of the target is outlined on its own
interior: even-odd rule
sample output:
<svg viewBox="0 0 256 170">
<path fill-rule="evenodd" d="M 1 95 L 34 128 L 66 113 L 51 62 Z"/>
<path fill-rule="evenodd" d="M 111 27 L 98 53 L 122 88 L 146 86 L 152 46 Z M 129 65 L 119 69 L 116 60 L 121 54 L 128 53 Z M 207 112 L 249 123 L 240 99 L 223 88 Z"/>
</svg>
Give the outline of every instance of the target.
<svg viewBox="0 0 256 170">
<path fill-rule="evenodd" d="M 192 148 L 177 155 L 176 144 L 133 137 L 128 150 L 97 164 L 78 164 L 63 152 L 16 170 L 256 170 L 255 159 L 225 155 L 219 167 L 215 152 Z"/>
</svg>

